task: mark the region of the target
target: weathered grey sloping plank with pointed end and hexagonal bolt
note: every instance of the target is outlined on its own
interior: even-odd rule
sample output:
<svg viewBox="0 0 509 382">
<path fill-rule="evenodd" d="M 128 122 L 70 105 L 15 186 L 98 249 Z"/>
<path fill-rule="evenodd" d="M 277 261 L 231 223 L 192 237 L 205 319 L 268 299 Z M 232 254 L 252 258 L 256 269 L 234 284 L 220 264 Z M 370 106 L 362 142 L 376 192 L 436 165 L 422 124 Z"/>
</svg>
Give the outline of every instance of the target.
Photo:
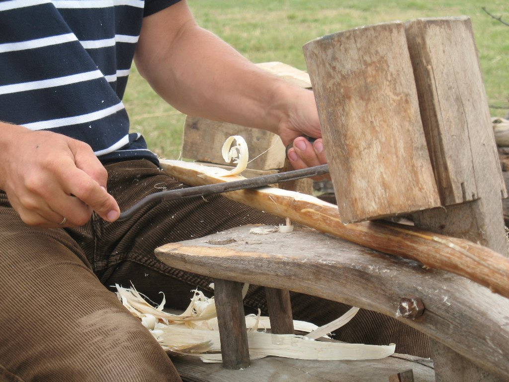
<svg viewBox="0 0 509 382">
<path fill-rule="evenodd" d="M 507 298 L 449 272 L 314 230 L 255 235 L 251 228 L 169 243 L 158 248 L 156 256 L 169 266 L 197 274 L 290 288 L 395 317 L 509 379 Z M 207 242 L 214 237 L 232 240 L 218 247 Z M 421 299 L 422 315 L 413 320 L 401 315 L 405 296 Z"/>
</svg>

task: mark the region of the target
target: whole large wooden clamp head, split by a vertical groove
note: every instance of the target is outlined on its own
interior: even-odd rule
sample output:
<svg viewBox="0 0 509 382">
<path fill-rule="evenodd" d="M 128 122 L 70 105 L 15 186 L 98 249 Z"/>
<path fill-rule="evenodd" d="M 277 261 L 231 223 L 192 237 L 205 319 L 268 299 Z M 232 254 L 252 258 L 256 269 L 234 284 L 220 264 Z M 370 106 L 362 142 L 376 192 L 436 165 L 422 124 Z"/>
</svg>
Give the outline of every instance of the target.
<svg viewBox="0 0 509 382">
<path fill-rule="evenodd" d="M 468 18 L 364 26 L 303 50 L 343 223 L 477 199 L 474 146 L 501 179 Z"/>
</svg>

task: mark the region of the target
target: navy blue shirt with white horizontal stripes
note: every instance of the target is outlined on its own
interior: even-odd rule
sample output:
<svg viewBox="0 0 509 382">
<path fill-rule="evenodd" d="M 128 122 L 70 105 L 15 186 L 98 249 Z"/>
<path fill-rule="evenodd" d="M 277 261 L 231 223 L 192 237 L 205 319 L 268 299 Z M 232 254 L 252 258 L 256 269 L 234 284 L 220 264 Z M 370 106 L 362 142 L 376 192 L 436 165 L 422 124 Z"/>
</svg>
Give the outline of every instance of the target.
<svg viewBox="0 0 509 382">
<path fill-rule="evenodd" d="M 144 16 L 179 0 L 0 0 L 0 121 L 146 158 L 122 97 Z"/>
</svg>

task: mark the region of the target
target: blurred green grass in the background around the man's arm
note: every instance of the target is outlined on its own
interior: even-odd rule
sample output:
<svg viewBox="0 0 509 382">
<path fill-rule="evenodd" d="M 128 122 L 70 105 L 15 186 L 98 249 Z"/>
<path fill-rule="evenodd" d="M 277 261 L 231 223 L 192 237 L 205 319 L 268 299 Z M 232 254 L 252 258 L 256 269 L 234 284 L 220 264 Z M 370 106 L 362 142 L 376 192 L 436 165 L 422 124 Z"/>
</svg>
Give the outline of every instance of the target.
<svg viewBox="0 0 509 382">
<path fill-rule="evenodd" d="M 361 25 L 417 17 L 466 15 L 472 20 L 480 66 L 492 116 L 509 108 L 509 21 L 505 1 L 492 0 L 188 0 L 197 22 L 233 45 L 253 62 L 281 61 L 305 70 L 302 45 L 317 37 Z M 165 104 L 133 66 L 125 105 L 131 130 L 142 132 L 149 147 L 178 158 L 185 116 Z M 503 107 L 503 108 L 497 108 Z M 505 108 L 505 109 L 504 109 Z"/>
</svg>

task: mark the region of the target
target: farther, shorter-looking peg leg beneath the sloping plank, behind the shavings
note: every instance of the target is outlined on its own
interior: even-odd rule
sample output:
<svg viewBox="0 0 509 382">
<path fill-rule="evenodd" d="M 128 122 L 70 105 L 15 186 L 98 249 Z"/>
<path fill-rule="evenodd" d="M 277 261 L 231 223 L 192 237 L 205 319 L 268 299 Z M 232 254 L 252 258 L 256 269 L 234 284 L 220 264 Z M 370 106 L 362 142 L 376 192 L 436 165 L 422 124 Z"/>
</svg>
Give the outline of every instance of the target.
<svg viewBox="0 0 509 382">
<path fill-rule="evenodd" d="M 292 305 L 290 292 L 285 289 L 265 287 L 269 309 L 270 331 L 273 334 L 293 334 Z"/>
</svg>

